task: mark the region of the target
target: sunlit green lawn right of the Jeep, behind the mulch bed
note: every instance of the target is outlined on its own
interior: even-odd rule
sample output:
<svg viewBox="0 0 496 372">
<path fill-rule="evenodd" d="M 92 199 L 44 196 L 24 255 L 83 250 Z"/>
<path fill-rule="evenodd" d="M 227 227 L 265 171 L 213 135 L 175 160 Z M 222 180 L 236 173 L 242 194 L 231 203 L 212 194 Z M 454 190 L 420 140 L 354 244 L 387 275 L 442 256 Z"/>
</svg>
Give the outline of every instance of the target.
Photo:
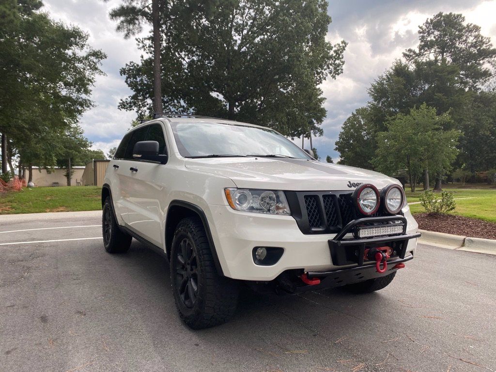
<svg viewBox="0 0 496 372">
<path fill-rule="evenodd" d="M 496 222 L 496 189 L 460 189 L 443 186 L 443 190 L 453 192 L 455 199 L 460 197 L 474 197 L 473 199 L 455 200 L 456 208 L 450 213 Z M 419 197 L 423 192 L 423 190 L 420 190 L 412 193 L 407 190 L 406 197 L 408 202 L 419 201 Z M 424 207 L 420 204 L 410 205 L 410 209 L 413 214 L 425 213 Z"/>
</svg>

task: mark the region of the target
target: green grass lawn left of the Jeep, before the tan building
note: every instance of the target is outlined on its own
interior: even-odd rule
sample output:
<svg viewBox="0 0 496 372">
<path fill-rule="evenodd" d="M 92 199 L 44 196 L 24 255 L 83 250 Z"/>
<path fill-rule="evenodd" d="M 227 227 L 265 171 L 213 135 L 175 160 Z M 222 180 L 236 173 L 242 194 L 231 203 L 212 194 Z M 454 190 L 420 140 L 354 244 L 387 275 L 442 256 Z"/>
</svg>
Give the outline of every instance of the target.
<svg viewBox="0 0 496 372">
<path fill-rule="evenodd" d="M 0 193 L 0 214 L 102 209 L 99 186 L 23 188 Z"/>
</svg>

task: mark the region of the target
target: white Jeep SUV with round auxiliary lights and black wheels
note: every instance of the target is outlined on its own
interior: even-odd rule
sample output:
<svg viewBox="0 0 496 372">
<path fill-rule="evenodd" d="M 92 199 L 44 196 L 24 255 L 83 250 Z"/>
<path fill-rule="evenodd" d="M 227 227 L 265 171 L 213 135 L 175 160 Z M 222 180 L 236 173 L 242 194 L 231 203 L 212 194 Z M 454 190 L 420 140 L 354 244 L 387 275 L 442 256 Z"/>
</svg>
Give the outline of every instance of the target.
<svg viewBox="0 0 496 372">
<path fill-rule="evenodd" d="M 167 254 L 191 328 L 225 322 L 240 283 L 278 293 L 387 286 L 420 234 L 398 180 L 324 164 L 276 131 L 156 116 L 121 141 L 102 189 L 110 253 Z"/>
</svg>

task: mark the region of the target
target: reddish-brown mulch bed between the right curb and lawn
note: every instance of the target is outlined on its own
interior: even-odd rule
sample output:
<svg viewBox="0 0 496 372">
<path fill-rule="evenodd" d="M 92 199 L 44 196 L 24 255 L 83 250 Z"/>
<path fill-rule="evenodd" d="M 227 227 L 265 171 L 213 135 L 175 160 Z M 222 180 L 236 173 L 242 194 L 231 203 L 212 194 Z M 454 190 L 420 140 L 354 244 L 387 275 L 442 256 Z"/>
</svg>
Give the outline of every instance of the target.
<svg viewBox="0 0 496 372">
<path fill-rule="evenodd" d="M 496 239 L 496 223 L 453 214 L 419 213 L 419 229 L 455 234 L 470 238 Z"/>
</svg>

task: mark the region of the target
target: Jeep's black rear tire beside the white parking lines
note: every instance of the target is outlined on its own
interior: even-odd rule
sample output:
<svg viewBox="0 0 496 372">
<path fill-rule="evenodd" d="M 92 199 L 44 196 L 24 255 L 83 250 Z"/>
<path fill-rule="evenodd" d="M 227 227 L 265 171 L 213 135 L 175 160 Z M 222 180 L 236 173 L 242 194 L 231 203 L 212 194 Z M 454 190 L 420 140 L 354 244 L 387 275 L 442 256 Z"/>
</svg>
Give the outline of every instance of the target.
<svg viewBox="0 0 496 372">
<path fill-rule="evenodd" d="M 125 253 L 131 245 L 132 237 L 124 233 L 117 224 L 110 196 L 107 196 L 103 204 L 102 235 L 103 245 L 109 253 Z"/>
</svg>

